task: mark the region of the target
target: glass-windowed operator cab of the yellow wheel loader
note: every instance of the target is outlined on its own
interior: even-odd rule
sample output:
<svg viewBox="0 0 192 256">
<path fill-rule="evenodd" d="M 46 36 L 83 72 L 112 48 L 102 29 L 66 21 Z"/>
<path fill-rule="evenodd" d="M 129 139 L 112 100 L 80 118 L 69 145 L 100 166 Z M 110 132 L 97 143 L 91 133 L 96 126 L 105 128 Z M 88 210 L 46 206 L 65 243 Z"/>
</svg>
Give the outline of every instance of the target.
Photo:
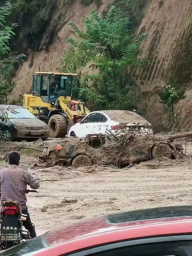
<svg viewBox="0 0 192 256">
<path fill-rule="evenodd" d="M 40 96 L 45 103 L 56 101 L 60 96 L 70 100 L 73 84 L 78 81 L 77 74 L 36 72 L 33 76 L 32 94 Z"/>
</svg>

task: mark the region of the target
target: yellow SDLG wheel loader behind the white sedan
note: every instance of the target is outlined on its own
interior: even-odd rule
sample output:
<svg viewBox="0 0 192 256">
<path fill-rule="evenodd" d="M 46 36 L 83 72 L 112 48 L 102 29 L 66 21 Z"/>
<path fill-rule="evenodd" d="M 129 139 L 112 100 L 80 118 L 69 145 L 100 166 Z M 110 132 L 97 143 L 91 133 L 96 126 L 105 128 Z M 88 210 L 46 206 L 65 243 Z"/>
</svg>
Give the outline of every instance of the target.
<svg viewBox="0 0 192 256">
<path fill-rule="evenodd" d="M 24 95 L 24 107 L 48 123 L 53 138 L 65 137 L 77 120 L 90 113 L 84 102 L 71 100 L 78 82 L 73 73 L 36 72 L 32 94 Z"/>
</svg>

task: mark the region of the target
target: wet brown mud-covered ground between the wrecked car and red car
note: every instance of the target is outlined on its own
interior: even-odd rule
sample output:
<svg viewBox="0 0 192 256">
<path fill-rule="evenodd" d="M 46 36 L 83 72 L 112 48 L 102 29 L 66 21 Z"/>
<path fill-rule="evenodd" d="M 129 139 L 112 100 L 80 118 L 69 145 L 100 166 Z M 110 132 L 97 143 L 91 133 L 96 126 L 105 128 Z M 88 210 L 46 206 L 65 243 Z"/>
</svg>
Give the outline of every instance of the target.
<svg viewBox="0 0 192 256">
<path fill-rule="evenodd" d="M 191 144 L 188 146 L 191 154 Z M 24 152 L 23 152 L 24 154 Z M 38 163 L 22 156 L 21 166 Z M 37 166 L 39 194 L 27 196 L 37 234 L 80 219 L 139 208 L 187 205 L 192 202 L 191 157 L 141 163 L 132 168 Z M 0 162 L 0 168 L 7 166 Z M 67 201 L 67 200 L 68 201 Z"/>
</svg>

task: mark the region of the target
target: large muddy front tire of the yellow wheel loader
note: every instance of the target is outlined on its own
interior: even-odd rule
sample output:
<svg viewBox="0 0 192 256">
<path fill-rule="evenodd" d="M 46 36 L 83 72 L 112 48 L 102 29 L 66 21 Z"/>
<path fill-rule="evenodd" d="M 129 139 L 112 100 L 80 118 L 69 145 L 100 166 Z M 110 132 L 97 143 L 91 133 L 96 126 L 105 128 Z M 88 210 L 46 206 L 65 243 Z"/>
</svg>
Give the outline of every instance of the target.
<svg viewBox="0 0 192 256">
<path fill-rule="evenodd" d="M 63 138 L 67 135 L 67 122 L 62 115 L 52 115 L 48 126 L 52 138 Z"/>
</svg>

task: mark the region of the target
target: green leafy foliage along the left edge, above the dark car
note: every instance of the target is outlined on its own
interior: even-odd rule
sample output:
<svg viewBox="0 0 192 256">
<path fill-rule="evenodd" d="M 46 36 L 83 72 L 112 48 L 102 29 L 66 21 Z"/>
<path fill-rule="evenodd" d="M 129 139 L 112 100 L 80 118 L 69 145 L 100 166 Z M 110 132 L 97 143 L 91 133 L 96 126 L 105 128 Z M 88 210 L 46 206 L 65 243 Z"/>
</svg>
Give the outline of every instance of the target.
<svg viewBox="0 0 192 256">
<path fill-rule="evenodd" d="M 15 35 L 13 27 L 16 24 L 13 24 L 12 27 L 6 26 L 6 16 L 10 15 L 11 12 L 12 5 L 9 2 L 6 2 L 4 6 L 0 7 L 0 103 L 3 102 L 5 94 L 12 92 L 15 65 L 25 56 L 21 54 L 16 57 L 9 56 L 8 58 L 4 58 L 5 54 L 10 51 L 9 40 Z"/>
</svg>

